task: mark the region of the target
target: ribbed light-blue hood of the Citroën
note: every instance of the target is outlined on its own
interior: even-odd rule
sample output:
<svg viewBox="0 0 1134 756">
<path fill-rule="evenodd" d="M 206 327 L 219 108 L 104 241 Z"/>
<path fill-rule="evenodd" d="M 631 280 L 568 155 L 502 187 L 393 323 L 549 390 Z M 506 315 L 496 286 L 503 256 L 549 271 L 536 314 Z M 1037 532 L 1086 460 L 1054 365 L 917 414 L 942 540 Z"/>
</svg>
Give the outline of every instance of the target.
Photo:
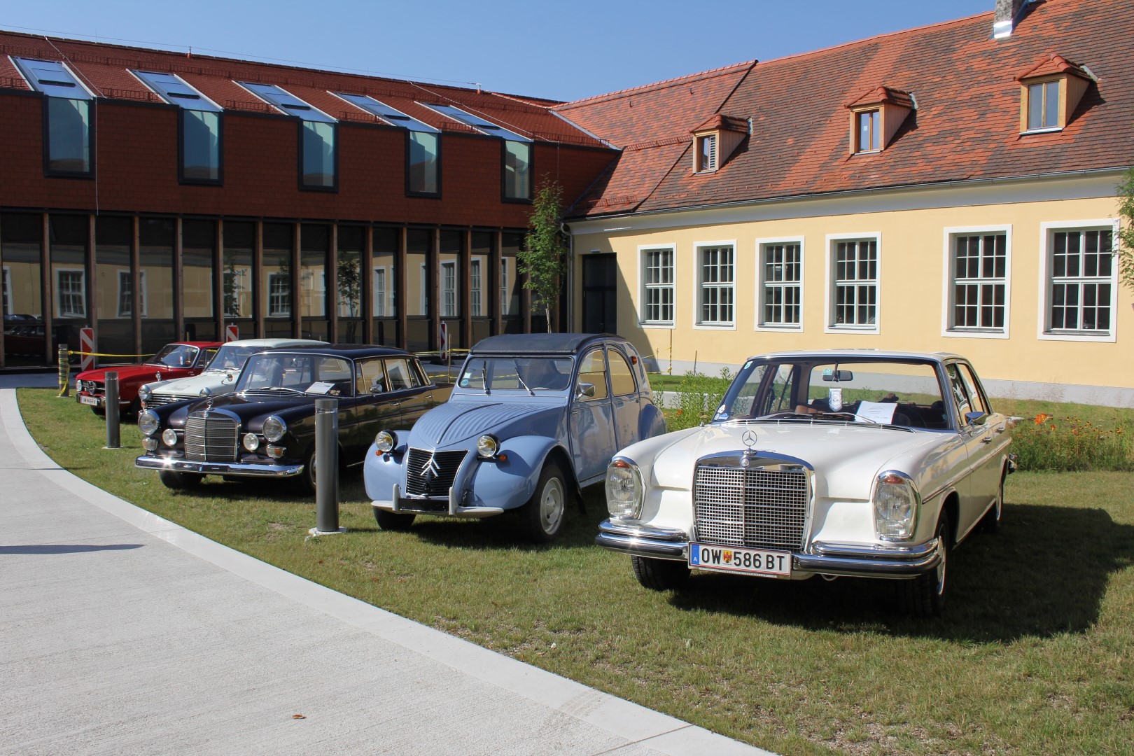
<svg viewBox="0 0 1134 756">
<path fill-rule="evenodd" d="M 556 433 L 565 407 L 559 401 L 448 401 L 414 424 L 409 443 L 420 448 L 451 447 L 485 433 L 501 441 L 515 435 Z"/>
</svg>

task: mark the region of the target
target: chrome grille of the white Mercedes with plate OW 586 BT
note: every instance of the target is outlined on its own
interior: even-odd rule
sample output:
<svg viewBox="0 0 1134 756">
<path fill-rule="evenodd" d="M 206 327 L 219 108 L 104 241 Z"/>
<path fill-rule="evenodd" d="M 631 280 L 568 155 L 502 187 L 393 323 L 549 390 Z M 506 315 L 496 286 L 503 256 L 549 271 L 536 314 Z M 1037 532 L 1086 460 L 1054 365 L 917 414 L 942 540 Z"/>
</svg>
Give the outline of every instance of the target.
<svg viewBox="0 0 1134 756">
<path fill-rule="evenodd" d="M 701 543 L 799 551 L 807 523 L 807 474 L 802 467 L 699 465 L 693 483 Z"/>
</svg>

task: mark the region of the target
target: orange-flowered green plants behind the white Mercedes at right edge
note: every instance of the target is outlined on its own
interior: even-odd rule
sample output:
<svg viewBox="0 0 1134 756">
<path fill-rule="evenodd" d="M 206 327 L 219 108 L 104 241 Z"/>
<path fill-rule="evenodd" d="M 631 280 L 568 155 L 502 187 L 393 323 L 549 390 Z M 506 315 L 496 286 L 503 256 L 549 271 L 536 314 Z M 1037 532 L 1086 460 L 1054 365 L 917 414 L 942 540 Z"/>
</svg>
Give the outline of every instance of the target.
<svg viewBox="0 0 1134 756">
<path fill-rule="evenodd" d="M 1012 434 L 1022 470 L 1134 470 L 1134 443 L 1122 426 L 1106 430 L 1091 421 L 1057 421 L 1046 413 L 1024 423 Z"/>
</svg>

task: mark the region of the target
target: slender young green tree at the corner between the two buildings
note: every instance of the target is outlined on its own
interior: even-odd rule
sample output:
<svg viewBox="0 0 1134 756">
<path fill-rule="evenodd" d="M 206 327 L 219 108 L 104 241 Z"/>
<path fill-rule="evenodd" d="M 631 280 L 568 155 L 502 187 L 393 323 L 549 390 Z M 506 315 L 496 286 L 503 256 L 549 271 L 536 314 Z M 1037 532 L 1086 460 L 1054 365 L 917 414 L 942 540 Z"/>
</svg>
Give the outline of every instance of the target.
<svg viewBox="0 0 1134 756">
<path fill-rule="evenodd" d="M 535 192 L 528 216 L 524 247 L 517 253 L 524 288 L 532 291 L 532 307 L 542 307 L 551 332 L 551 308 L 559 301 L 560 281 L 567 272 L 569 248 L 559 229 L 562 218 L 562 188 L 544 179 Z"/>
</svg>

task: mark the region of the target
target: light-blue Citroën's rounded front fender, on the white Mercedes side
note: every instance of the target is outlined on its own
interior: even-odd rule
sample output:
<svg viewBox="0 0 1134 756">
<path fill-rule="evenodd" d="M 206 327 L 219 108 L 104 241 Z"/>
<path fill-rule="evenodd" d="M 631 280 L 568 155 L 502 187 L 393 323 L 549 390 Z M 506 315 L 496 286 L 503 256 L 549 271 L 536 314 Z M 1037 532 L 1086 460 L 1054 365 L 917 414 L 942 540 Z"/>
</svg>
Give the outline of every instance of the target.
<svg viewBox="0 0 1134 756">
<path fill-rule="evenodd" d="M 501 509 L 523 507 L 535 493 L 543 464 L 557 447 L 562 448 L 555 439 L 541 435 L 513 436 L 500 442 L 497 459 L 477 460 L 475 472 L 465 484 L 467 493 L 462 504 Z M 564 474 L 574 477 L 570 470 Z"/>
</svg>

